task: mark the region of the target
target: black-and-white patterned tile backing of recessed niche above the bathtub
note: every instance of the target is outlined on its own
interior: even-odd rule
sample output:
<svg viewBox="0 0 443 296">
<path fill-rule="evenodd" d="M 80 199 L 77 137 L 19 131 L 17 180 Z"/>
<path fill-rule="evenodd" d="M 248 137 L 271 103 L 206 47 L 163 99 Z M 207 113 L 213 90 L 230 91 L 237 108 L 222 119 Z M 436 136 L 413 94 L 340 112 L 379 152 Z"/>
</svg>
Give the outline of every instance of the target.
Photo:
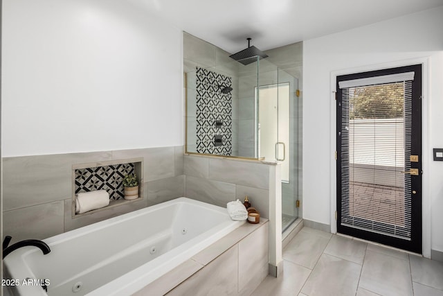
<svg viewBox="0 0 443 296">
<path fill-rule="evenodd" d="M 134 164 L 115 164 L 75 170 L 75 194 L 95 190 L 106 190 L 109 199 L 125 197 L 123 178 L 134 173 Z"/>
</svg>

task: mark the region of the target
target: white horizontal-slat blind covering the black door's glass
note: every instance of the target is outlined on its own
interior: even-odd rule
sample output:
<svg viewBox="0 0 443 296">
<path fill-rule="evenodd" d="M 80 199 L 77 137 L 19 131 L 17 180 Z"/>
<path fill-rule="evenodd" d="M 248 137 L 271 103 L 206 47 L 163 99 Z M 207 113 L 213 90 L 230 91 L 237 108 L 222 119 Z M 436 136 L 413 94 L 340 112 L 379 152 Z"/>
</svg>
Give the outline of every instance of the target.
<svg viewBox="0 0 443 296">
<path fill-rule="evenodd" d="M 342 225 L 410 239 L 410 73 L 339 83 Z"/>
</svg>

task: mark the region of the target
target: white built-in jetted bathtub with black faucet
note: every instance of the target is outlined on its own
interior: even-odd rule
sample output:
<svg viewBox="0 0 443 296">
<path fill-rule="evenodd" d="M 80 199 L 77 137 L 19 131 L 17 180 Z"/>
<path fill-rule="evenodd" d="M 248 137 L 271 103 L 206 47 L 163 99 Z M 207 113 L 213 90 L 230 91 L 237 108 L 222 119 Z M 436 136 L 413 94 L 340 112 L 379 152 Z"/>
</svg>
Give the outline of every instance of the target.
<svg viewBox="0 0 443 296">
<path fill-rule="evenodd" d="M 4 260 L 19 295 L 131 295 L 233 231 L 225 208 L 177 198 L 23 247 Z M 48 279 L 23 286 L 23 279 Z M 78 292 L 74 292 L 78 290 Z"/>
</svg>

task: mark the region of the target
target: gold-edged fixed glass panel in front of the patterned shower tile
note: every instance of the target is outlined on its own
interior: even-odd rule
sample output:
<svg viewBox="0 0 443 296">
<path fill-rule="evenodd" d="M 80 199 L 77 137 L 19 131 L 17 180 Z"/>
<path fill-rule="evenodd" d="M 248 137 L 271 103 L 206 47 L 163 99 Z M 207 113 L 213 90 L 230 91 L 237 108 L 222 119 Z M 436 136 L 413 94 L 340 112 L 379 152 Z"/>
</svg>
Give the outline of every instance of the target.
<svg viewBox="0 0 443 296">
<path fill-rule="evenodd" d="M 226 60 L 185 61 L 186 152 L 256 158 L 259 63 Z"/>
</svg>

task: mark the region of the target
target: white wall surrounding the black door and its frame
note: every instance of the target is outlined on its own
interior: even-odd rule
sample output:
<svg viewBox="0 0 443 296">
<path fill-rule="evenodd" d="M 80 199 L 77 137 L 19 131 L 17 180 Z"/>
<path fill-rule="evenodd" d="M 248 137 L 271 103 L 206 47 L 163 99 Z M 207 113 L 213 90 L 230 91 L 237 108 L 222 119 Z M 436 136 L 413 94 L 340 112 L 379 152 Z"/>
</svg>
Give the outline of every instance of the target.
<svg viewBox="0 0 443 296">
<path fill-rule="evenodd" d="M 443 252 L 443 163 L 433 162 L 432 148 L 443 147 L 443 6 L 303 42 L 303 218 L 330 224 L 330 169 L 335 137 L 330 126 L 331 76 L 335 71 L 428 58 L 427 159 L 424 203 L 431 204 L 431 247 Z M 425 143 L 426 145 L 426 143 Z M 427 167 L 426 167 L 427 164 Z"/>
</svg>

